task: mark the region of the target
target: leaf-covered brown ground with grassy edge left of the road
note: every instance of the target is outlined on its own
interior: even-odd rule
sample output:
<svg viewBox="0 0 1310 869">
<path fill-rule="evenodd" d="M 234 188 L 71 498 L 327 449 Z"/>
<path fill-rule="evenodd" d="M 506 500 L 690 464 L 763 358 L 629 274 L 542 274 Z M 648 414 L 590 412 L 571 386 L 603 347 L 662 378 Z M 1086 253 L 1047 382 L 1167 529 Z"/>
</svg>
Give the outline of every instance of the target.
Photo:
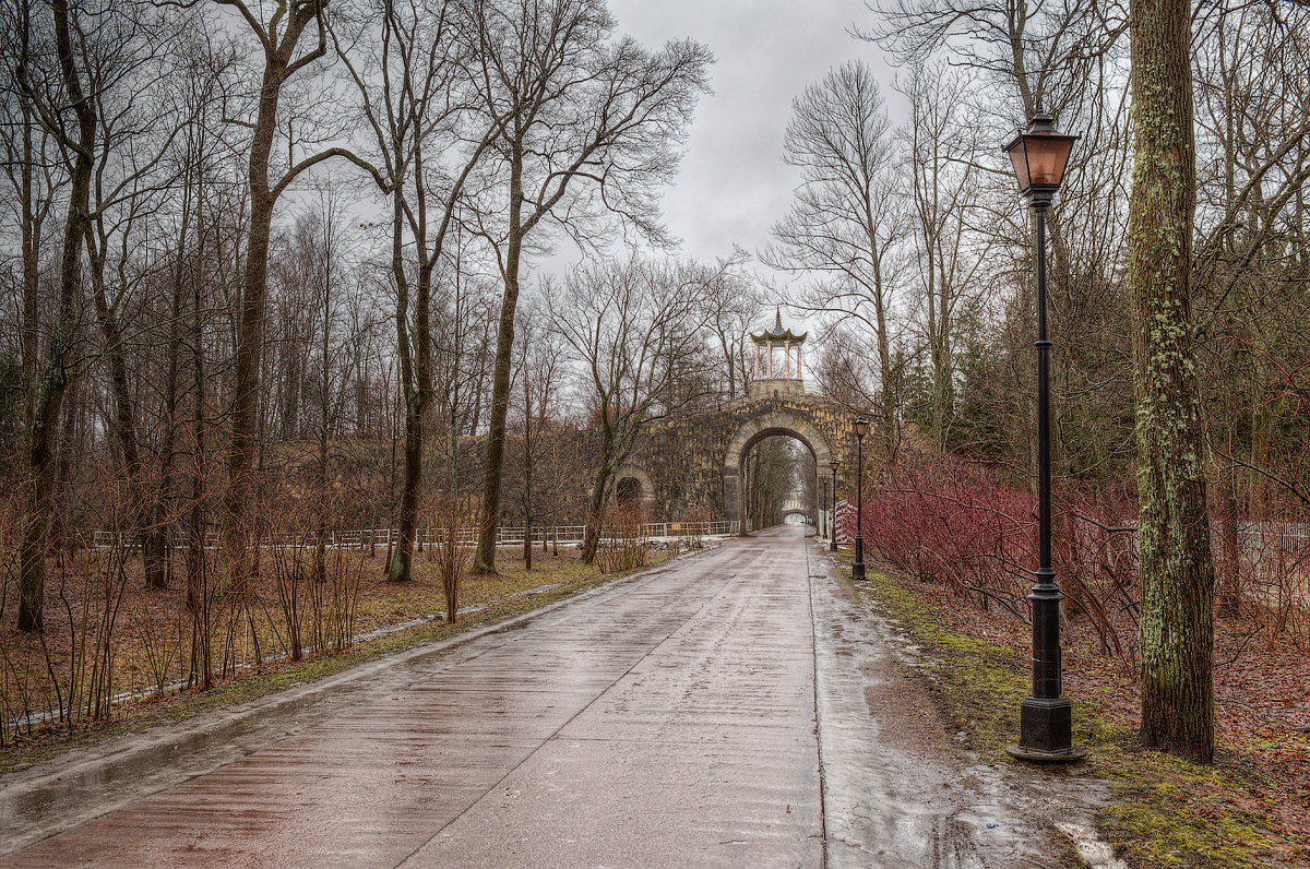
<svg viewBox="0 0 1310 869">
<path fill-rule="evenodd" d="M 673 554 L 676 550 L 650 550 L 641 566 L 656 565 Z M 193 616 L 186 609 L 181 579 L 168 589 L 148 590 L 140 564 L 134 562 L 126 568 L 121 587 L 114 583 L 106 591 L 106 583 L 92 571 L 79 574 L 89 579 L 75 581 L 62 579 L 58 570 L 51 570 L 43 637 L 18 632 L 14 625 L 17 607 L 0 607 L 0 775 L 67 748 L 326 678 L 377 655 L 444 640 L 631 573 L 603 574 L 578 556 L 574 547 L 561 547 L 558 554 L 538 548 L 532 556 L 532 569 L 525 570 L 521 548 L 502 548 L 498 574 L 464 575 L 460 616 L 451 624 L 444 619 L 441 577 L 430 553 L 415 554 L 413 578 L 401 583 L 386 581 L 381 548 L 376 554 L 359 553 L 348 569 L 337 565 L 338 570 L 350 574 L 348 583 L 341 585 L 355 591 L 354 612 L 348 619 L 334 623 L 343 607 L 330 602 L 331 581 L 324 583 L 326 591 L 316 592 L 326 599 L 321 606 L 316 608 L 301 602 L 297 617 L 303 657 L 299 661 L 291 659 L 287 609 L 271 578 L 259 585 L 245 611 L 231 606 L 231 598 L 215 595 L 211 628 L 215 678 L 210 691 L 187 686 Z M 309 591 L 312 589 L 301 589 L 299 594 Z M 13 595 L 7 596 L 12 604 Z M 97 718 L 85 708 L 85 686 L 96 659 L 102 657 L 94 653 L 94 646 L 100 633 L 97 624 L 103 623 L 98 613 L 105 611 L 117 613 L 110 634 L 110 691 L 118 700 L 110 716 Z M 90 613 L 85 623 L 84 612 Z M 333 647 L 333 624 L 341 625 L 338 634 L 354 638 L 343 650 Z M 316 636 L 322 641 L 321 649 L 314 647 Z M 45 716 L 47 710 L 69 705 L 71 682 L 83 683 L 77 688 L 81 708 L 71 714 L 66 712 L 63 721 L 58 716 L 50 720 Z M 162 692 L 159 691 L 161 684 Z M 29 712 L 30 718 L 25 717 Z"/>
</svg>

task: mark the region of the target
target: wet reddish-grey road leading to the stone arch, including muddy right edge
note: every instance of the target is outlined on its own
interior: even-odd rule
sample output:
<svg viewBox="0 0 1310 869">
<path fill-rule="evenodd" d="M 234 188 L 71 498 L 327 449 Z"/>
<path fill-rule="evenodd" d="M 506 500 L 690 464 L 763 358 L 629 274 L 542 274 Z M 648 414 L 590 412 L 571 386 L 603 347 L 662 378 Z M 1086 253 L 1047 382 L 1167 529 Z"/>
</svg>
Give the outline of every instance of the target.
<svg viewBox="0 0 1310 869">
<path fill-rule="evenodd" d="M 0 865 L 1044 865 L 795 528 L 301 695 L 0 779 Z"/>
</svg>

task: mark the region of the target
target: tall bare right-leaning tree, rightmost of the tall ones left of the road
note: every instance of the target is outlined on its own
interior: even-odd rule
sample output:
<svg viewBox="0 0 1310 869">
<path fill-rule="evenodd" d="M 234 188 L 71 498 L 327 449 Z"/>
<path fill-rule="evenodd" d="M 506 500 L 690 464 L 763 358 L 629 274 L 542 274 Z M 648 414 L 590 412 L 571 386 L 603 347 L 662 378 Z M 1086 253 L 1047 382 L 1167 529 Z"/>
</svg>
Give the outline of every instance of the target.
<svg viewBox="0 0 1310 869">
<path fill-rule="evenodd" d="M 489 117 L 504 118 L 499 160 L 473 216 L 504 287 L 473 565 L 494 573 L 524 256 L 550 225 L 587 244 L 586 218 L 603 211 L 662 239 L 655 193 L 676 168 L 710 54 L 690 41 L 655 52 L 627 38 L 610 42 L 614 21 L 603 0 L 478 0 L 473 21 L 478 100 Z"/>
</svg>

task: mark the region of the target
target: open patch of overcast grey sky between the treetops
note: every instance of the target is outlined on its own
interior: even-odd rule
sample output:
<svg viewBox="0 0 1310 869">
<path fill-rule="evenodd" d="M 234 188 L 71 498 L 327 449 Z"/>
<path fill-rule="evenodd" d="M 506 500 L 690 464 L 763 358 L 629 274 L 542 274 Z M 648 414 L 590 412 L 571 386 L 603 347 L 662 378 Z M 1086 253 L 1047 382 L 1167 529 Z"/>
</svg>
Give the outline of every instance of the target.
<svg viewBox="0 0 1310 869">
<path fill-rule="evenodd" d="M 697 260 L 768 242 L 796 182 L 782 163 L 793 97 L 857 58 L 892 79 L 878 46 L 848 33 L 871 21 L 862 0 L 609 0 L 609 8 L 618 31 L 648 48 L 690 37 L 714 52 L 714 93 L 701 98 L 663 201 L 665 224 Z"/>
</svg>

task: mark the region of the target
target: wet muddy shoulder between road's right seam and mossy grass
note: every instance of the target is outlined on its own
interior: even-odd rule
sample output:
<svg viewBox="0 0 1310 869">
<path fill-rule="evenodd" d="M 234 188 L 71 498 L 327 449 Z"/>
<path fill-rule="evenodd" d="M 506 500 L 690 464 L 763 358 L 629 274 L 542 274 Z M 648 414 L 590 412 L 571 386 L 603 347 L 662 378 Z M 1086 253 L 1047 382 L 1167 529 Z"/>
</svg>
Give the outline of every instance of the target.
<svg viewBox="0 0 1310 869">
<path fill-rule="evenodd" d="M 1085 861 L 1107 788 L 981 758 L 942 709 L 921 650 L 849 569 L 811 560 L 828 865 L 1108 869 Z M 1108 851 L 1108 848 L 1107 848 Z"/>
</svg>

